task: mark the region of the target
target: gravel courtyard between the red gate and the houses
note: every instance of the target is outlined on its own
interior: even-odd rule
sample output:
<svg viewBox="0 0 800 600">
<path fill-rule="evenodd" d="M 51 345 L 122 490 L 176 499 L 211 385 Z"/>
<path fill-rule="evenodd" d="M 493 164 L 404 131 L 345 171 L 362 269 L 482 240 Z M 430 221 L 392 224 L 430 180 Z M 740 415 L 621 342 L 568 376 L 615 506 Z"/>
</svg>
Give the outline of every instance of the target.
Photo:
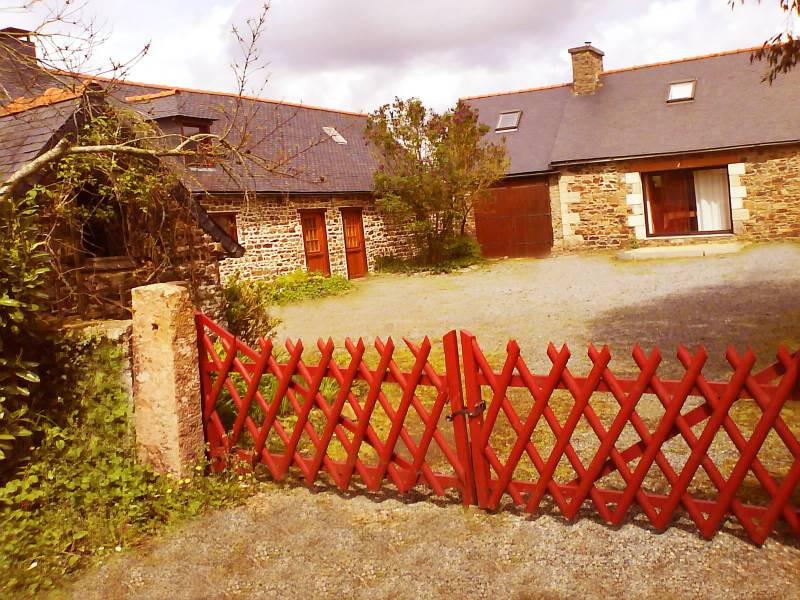
<svg viewBox="0 0 800 600">
<path fill-rule="evenodd" d="M 760 245 L 700 259 L 627 262 L 611 255 L 493 261 L 450 275 L 378 275 L 346 296 L 283 307 L 278 339 L 428 335 L 467 329 L 500 351 L 516 338 L 545 366 L 552 341 L 580 362 L 609 344 L 628 369 L 633 344 L 659 345 L 673 371 L 679 344 L 704 344 L 707 373 L 725 370 L 728 344 L 771 362 L 781 342 L 800 345 L 800 245 Z"/>
</svg>

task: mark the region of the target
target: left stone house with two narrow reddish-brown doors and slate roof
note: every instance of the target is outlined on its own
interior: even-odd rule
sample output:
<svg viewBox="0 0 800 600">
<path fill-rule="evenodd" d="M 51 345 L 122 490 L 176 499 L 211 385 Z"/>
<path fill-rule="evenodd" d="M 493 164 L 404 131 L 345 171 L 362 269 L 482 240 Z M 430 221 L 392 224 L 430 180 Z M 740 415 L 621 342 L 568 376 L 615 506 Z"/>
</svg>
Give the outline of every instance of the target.
<svg viewBox="0 0 800 600">
<path fill-rule="evenodd" d="M 228 131 L 241 144 L 241 161 L 182 165 L 194 196 L 244 248 L 220 262 L 223 279 L 297 269 L 356 278 L 377 257 L 409 254 L 375 204 L 367 115 L 132 82 L 115 83 L 114 94 L 165 134 Z"/>
</svg>

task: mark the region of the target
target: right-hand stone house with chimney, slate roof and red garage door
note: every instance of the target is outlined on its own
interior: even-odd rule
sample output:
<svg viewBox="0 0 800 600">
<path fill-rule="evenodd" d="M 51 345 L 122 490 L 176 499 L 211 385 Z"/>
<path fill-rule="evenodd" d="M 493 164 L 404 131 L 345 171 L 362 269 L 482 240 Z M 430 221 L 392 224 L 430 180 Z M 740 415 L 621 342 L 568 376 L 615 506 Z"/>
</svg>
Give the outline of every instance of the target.
<svg viewBox="0 0 800 600">
<path fill-rule="evenodd" d="M 510 168 L 476 215 L 488 256 L 800 237 L 800 71 L 762 81 L 749 50 L 465 98 Z"/>
</svg>

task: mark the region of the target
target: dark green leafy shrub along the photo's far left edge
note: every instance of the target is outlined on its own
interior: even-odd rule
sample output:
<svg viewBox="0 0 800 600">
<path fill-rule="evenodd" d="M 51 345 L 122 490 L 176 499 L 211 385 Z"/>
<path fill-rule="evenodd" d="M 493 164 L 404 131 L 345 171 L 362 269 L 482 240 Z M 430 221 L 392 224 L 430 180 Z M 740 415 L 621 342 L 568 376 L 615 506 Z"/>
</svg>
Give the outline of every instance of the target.
<svg viewBox="0 0 800 600">
<path fill-rule="evenodd" d="M 40 380 L 37 346 L 48 272 L 32 195 L 0 199 L 0 464 L 31 435 L 29 402 Z"/>
</svg>

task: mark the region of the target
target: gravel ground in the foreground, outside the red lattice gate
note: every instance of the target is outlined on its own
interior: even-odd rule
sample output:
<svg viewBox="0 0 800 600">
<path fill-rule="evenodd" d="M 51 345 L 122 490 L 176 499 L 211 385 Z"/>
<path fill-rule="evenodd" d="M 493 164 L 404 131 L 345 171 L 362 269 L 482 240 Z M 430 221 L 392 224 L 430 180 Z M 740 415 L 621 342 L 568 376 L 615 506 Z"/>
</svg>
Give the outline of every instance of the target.
<svg viewBox="0 0 800 600">
<path fill-rule="evenodd" d="M 457 504 L 270 491 L 115 557 L 108 598 L 800 598 L 800 548 Z"/>
</svg>

